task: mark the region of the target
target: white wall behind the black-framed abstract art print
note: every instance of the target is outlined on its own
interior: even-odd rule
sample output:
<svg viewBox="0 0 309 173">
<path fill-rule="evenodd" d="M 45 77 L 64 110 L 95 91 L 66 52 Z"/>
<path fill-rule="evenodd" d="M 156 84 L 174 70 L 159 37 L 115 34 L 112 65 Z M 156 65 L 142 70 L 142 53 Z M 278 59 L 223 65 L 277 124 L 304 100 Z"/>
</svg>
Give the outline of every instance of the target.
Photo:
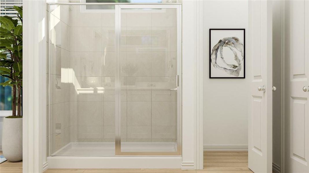
<svg viewBox="0 0 309 173">
<path fill-rule="evenodd" d="M 248 28 L 248 1 L 204 2 L 204 147 L 248 146 L 249 79 L 209 79 L 209 29 Z M 247 32 L 247 31 L 246 31 Z M 250 69 L 246 58 L 246 71 Z M 248 76 L 246 76 L 248 77 Z"/>
</svg>

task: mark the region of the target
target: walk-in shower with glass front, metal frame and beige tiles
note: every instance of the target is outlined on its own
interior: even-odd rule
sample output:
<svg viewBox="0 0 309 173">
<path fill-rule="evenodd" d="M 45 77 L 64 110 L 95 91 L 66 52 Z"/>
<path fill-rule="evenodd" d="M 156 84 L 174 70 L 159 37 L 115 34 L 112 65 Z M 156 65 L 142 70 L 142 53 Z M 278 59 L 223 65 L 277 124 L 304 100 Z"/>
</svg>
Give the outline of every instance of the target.
<svg viewBox="0 0 309 173">
<path fill-rule="evenodd" d="M 181 155 L 181 5 L 47 10 L 47 155 Z"/>
</svg>

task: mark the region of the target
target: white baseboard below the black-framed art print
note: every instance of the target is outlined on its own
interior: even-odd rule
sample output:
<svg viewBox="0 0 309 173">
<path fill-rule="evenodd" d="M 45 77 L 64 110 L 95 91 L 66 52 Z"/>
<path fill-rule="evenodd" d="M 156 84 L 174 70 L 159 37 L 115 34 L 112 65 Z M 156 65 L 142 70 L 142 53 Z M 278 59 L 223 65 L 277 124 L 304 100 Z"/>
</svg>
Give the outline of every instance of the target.
<svg viewBox="0 0 309 173">
<path fill-rule="evenodd" d="M 248 145 L 204 145 L 204 151 L 248 151 Z"/>
</svg>

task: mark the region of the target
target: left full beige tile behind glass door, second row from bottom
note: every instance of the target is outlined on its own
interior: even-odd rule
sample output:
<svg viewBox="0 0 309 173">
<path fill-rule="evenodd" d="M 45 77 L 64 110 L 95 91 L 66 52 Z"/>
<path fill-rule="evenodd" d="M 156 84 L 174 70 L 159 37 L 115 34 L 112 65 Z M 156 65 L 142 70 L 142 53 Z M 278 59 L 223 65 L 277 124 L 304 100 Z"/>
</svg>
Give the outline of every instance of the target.
<svg viewBox="0 0 309 173">
<path fill-rule="evenodd" d="M 127 104 L 128 126 L 151 126 L 151 102 L 128 101 Z"/>
</svg>

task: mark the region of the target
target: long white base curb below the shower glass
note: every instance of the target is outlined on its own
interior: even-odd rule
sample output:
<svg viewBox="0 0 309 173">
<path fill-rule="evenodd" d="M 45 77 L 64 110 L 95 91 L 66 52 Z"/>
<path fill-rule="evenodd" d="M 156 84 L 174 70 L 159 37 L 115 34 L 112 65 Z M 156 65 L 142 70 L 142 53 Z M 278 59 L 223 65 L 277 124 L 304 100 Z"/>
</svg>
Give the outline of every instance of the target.
<svg viewBox="0 0 309 173">
<path fill-rule="evenodd" d="M 49 169 L 180 169 L 181 161 L 181 156 L 47 157 Z"/>
</svg>

